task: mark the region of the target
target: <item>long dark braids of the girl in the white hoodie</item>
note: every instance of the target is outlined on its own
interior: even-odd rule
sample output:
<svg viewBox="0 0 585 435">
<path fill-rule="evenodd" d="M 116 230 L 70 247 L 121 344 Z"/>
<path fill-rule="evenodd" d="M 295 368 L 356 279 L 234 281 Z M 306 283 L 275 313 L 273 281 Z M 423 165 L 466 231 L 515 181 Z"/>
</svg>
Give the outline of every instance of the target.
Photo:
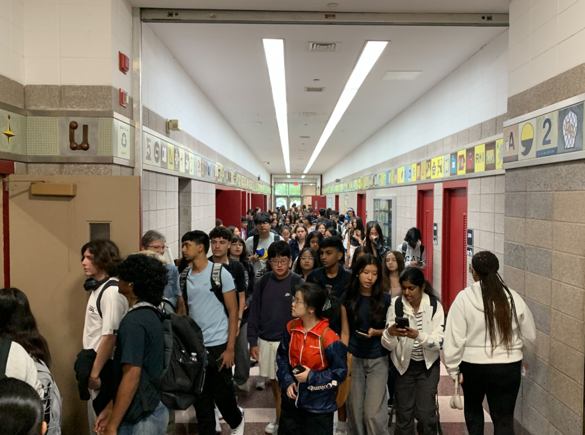
<svg viewBox="0 0 585 435">
<path fill-rule="evenodd" d="M 490 251 L 481 251 L 472 258 L 472 267 L 480 278 L 481 297 L 483 298 L 484 317 L 486 319 L 486 340 L 487 334 L 490 334 L 491 355 L 494 355 L 494 349 L 500 344 L 504 344 L 508 354 L 514 341 L 512 334 L 512 317 L 520 330 L 516 305 L 514 298 L 507 285 L 498 273 L 500 261 Z M 510 303 L 508 303 L 510 296 Z M 497 336 L 500 335 L 500 341 L 496 343 Z"/>
</svg>

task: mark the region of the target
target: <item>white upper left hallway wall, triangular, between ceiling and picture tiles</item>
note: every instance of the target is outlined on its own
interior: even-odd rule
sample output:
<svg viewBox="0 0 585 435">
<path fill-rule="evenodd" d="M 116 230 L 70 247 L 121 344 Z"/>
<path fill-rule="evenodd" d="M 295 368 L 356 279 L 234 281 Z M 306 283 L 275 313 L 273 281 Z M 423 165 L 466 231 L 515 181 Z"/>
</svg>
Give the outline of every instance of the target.
<svg viewBox="0 0 585 435">
<path fill-rule="evenodd" d="M 262 179 L 267 171 L 146 23 L 142 26 L 142 103 Z"/>
</svg>

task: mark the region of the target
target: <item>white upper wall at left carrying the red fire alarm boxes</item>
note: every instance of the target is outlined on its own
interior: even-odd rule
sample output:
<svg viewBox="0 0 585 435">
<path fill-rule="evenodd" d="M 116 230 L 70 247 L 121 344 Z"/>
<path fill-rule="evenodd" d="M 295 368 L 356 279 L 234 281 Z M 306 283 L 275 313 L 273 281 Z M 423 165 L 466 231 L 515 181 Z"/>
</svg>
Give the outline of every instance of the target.
<svg viewBox="0 0 585 435">
<path fill-rule="evenodd" d="M 130 57 L 132 65 L 132 8 L 126 0 L 23 3 L 23 77 L 15 80 L 43 85 L 113 85 L 132 91 L 132 72 L 124 75 L 118 70 L 118 51 Z"/>
</svg>

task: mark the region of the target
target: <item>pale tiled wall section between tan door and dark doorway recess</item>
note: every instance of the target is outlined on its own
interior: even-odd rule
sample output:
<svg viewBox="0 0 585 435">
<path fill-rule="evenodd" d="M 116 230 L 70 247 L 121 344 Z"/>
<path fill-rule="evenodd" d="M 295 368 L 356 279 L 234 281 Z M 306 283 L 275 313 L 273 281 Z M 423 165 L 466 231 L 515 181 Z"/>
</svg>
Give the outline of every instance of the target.
<svg viewBox="0 0 585 435">
<path fill-rule="evenodd" d="M 178 257 L 180 253 L 178 177 L 143 171 L 142 233 L 148 230 L 159 230 L 167 236 L 171 256 Z"/>
</svg>

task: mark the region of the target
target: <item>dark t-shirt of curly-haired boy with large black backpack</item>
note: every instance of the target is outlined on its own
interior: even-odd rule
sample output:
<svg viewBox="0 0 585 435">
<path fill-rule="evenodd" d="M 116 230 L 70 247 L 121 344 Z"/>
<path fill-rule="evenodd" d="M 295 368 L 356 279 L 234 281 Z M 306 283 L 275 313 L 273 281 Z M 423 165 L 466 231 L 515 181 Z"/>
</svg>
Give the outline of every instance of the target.
<svg viewBox="0 0 585 435">
<path fill-rule="evenodd" d="M 153 381 L 160 378 L 164 363 L 164 332 L 159 316 L 150 308 L 136 308 L 120 322 L 113 353 L 114 388 L 122 381 L 122 365 L 142 368 L 138 388 L 122 421 L 135 423 L 149 415 L 160 402 Z"/>
</svg>

